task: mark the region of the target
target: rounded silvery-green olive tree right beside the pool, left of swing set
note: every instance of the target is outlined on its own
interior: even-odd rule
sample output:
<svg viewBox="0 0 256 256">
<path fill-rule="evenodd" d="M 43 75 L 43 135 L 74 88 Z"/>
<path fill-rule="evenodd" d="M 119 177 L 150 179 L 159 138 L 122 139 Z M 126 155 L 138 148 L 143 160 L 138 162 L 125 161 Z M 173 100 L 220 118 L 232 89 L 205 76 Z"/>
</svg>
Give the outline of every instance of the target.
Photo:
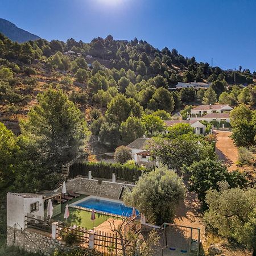
<svg viewBox="0 0 256 256">
<path fill-rule="evenodd" d="M 174 220 L 175 209 L 184 195 L 182 179 L 174 171 L 160 167 L 142 174 L 133 191 L 126 193 L 123 200 L 144 214 L 147 221 L 162 225 Z"/>
</svg>

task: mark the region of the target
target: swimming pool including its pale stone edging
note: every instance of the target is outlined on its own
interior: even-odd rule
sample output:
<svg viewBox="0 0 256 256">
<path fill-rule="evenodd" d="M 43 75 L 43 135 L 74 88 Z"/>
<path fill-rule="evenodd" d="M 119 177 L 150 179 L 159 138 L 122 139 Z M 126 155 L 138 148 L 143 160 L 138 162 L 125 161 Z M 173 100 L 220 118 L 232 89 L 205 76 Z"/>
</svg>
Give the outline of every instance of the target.
<svg viewBox="0 0 256 256">
<path fill-rule="evenodd" d="M 119 216 L 131 216 L 133 211 L 133 208 L 127 207 L 122 201 L 94 196 L 88 196 L 70 206 L 75 208 L 94 209 L 95 212 Z M 139 214 L 138 210 L 136 210 L 136 213 Z"/>
</svg>

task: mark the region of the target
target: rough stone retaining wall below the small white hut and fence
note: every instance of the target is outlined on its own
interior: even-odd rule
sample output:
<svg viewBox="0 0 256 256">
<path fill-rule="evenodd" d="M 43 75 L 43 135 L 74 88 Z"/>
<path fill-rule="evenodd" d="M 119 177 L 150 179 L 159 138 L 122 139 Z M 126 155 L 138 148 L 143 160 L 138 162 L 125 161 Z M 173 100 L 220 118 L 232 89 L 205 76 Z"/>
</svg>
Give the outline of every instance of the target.
<svg viewBox="0 0 256 256">
<path fill-rule="evenodd" d="M 7 246 L 15 245 L 23 248 L 31 253 L 38 253 L 39 251 L 46 255 L 51 255 L 56 249 L 61 251 L 68 251 L 71 248 L 64 245 L 64 242 L 53 239 L 51 234 L 43 235 L 37 230 L 31 229 L 14 229 L 7 226 Z M 15 233 L 15 235 L 14 235 Z"/>
</svg>

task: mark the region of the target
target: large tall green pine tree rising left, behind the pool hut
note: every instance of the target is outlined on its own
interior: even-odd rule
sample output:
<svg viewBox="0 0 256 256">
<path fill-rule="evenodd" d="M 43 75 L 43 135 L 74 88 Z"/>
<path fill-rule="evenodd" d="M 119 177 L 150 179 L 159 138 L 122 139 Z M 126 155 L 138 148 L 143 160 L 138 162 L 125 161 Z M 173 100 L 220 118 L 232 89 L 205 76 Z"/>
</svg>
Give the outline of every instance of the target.
<svg viewBox="0 0 256 256">
<path fill-rule="evenodd" d="M 36 144 L 45 168 L 58 172 L 85 153 L 89 131 L 80 110 L 61 90 L 50 88 L 37 100 L 20 124 L 22 135 Z"/>
</svg>

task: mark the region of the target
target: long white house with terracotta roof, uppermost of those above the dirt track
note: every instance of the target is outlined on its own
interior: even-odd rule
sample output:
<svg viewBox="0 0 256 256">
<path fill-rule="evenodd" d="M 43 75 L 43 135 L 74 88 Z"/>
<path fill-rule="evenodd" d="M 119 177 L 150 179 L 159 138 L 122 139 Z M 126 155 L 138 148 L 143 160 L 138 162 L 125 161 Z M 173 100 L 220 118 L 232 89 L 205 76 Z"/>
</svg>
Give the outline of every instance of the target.
<svg viewBox="0 0 256 256">
<path fill-rule="evenodd" d="M 191 114 L 189 115 L 189 119 L 195 120 L 198 117 L 203 117 L 203 115 L 210 113 L 224 113 L 230 112 L 233 108 L 228 104 L 214 104 L 214 105 L 200 105 L 196 106 L 196 108 L 191 109 Z"/>
</svg>

